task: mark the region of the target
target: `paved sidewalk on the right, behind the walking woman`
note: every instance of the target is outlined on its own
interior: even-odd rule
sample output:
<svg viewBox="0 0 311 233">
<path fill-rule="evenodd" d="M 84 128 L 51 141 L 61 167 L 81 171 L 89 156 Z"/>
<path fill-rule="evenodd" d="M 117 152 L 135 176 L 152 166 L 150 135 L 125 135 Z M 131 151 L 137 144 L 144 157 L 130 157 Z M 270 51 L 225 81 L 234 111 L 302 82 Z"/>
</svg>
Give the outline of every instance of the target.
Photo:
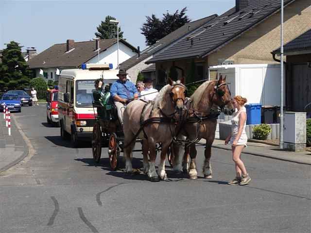
<svg viewBox="0 0 311 233">
<path fill-rule="evenodd" d="M 205 143 L 205 140 L 201 140 L 201 142 Z M 212 147 L 224 150 L 231 150 L 230 145 L 225 145 L 225 141 L 218 139 L 214 140 Z M 280 150 L 279 147 L 276 146 L 270 146 L 262 143 L 248 142 L 247 147 L 243 149 L 243 153 L 272 159 L 284 160 L 299 164 L 311 165 L 311 151 L 290 152 Z"/>
</svg>

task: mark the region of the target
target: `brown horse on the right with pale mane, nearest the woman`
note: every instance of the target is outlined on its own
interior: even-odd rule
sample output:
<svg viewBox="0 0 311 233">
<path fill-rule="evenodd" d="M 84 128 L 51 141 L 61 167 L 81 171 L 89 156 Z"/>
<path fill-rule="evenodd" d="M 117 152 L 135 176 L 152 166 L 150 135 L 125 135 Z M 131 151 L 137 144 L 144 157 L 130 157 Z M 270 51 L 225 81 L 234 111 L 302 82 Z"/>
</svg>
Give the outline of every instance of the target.
<svg viewBox="0 0 311 233">
<path fill-rule="evenodd" d="M 205 162 L 203 173 L 206 179 L 212 178 L 210 166 L 211 146 L 215 139 L 217 117 L 219 109 L 225 114 L 232 115 L 234 107 L 231 101 L 231 93 L 225 83 L 225 78 L 220 76 L 218 81 L 207 81 L 200 85 L 187 104 L 187 120 L 182 124 L 179 131 L 187 137 L 183 159 L 183 170 L 188 172 L 190 179 L 197 179 L 195 157 L 197 154 L 195 142 L 201 138 L 206 139 Z M 190 155 L 190 166 L 189 166 Z M 179 150 L 174 146 L 174 170 L 180 171 Z"/>
</svg>

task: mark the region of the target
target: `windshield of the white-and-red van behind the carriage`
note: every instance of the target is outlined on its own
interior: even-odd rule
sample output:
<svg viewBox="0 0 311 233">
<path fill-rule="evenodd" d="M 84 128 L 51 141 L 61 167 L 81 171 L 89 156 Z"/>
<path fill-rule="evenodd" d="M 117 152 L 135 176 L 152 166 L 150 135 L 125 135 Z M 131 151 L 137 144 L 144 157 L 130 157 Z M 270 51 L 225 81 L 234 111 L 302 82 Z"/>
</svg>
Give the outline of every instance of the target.
<svg viewBox="0 0 311 233">
<path fill-rule="evenodd" d="M 76 82 L 76 106 L 92 106 L 95 80 L 83 80 Z"/>
</svg>

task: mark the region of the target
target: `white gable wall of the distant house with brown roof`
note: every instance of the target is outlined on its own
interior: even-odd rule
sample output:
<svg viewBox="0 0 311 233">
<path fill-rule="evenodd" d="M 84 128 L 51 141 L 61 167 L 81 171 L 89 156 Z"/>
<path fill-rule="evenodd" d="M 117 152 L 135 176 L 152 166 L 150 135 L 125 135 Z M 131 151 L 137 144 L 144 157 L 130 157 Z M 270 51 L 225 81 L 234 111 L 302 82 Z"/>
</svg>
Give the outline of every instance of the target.
<svg viewBox="0 0 311 233">
<path fill-rule="evenodd" d="M 117 44 L 114 44 L 113 46 L 109 47 L 105 51 L 101 51 L 99 53 L 99 62 L 98 62 L 98 55 L 88 60 L 86 63 L 99 63 L 99 64 L 113 64 L 113 68 L 117 68 L 117 61 L 118 61 L 118 55 L 117 55 L 118 46 Z M 94 52 L 96 53 L 96 52 Z M 126 61 L 130 57 L 136 55 L 137 52 L 133 52 L 133 50 L 123 43 L 119 42 L 119 64 Z"/>
</svg>

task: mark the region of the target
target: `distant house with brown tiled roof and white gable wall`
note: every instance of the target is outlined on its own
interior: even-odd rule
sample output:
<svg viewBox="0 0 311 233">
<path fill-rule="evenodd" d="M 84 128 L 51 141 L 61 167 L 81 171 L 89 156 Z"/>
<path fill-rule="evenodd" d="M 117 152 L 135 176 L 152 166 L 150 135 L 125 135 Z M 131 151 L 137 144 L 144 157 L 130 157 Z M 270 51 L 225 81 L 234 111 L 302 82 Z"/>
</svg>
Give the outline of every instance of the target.
<svg viewBox="0 0 311 233">
<path fill-rule="evenodd" d="M 82 63 L 113 64 L 117 68 L 117 39 L 75 42 L 68 39 L 66 43 L 54 44 L 27 62 L 35 70 L 35 77 L 58 81 L 62 69 L 80 67 Z M 138 53 L 138 50 L 124 39 L 119 39 L 119 63 Z M 42 72 L 43 71 L 43 72 Z"/>
</svg>

